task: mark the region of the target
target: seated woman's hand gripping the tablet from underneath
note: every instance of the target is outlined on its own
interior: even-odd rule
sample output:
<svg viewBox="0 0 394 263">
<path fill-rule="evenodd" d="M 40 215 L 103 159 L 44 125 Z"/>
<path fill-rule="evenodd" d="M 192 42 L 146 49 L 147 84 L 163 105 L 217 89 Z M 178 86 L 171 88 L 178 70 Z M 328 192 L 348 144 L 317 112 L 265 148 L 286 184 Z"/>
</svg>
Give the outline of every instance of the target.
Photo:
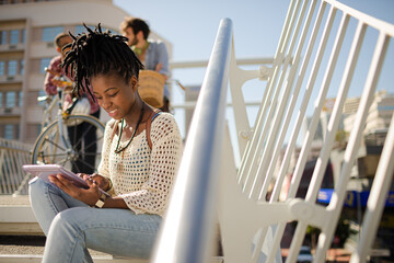
<svg viewBox="0 0 394 263">
<path fill-rule="evenodd" d="M 99 185 L 92 178 L 88 178 L 85 180 L 89 188 L 80 188 L 76 186 L 71 181 L 63 178 L 61 174 L 49 175 L 49 181 L 56 184 L 65 193 L 85 203 L 86 205 L 94 206 L 100 198 Z"/>
</svg>

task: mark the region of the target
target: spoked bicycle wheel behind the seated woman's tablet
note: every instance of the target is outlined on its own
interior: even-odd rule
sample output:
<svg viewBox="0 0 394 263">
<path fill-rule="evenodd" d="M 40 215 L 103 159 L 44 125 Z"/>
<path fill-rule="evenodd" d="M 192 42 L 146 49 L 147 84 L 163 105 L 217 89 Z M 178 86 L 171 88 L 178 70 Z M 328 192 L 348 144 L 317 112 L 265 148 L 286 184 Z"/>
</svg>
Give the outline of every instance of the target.
<svg viewBox="0 0 394 263">
<path fill-rule="evenodd" d="M 65 140 L 60 138 L 61 134 Z M 96 172 L 103 138 L 104 125 L 93 116 L 71 115 L 62 121 L 62 125 L 55 121 L 40 133 L 34 144 L 32 163 L 56 163 L 76 173 Z"/>
</svg>

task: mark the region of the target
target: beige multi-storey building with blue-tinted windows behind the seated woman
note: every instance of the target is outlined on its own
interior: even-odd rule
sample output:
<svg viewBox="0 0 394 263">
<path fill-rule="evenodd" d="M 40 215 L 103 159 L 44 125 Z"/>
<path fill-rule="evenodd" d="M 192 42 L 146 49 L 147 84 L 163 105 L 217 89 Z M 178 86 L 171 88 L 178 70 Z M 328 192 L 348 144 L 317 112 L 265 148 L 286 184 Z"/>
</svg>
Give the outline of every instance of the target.
<svg viewBox="0 0 394 263">
<path fill-rule="evenodd" d="M 117 33 L 129 16 L 112 0 L 2 0 L 0 1 L 0 137 L 34 142 L 40 133 L 45 95 L 45 68 L 58 55 L 58 33 L 81 33 L 101 23 Z M 154 32 L 151 38 L 161 38 Z M 102 113 L 102 121 L 106 114 Z"/>
</svg>

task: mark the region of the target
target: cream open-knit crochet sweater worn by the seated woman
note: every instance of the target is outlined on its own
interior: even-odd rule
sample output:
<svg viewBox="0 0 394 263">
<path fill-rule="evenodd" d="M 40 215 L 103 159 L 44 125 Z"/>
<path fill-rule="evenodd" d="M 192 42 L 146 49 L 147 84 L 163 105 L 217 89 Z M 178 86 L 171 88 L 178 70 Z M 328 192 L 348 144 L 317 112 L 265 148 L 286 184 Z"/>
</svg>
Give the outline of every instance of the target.
<svg viewBox="0 0 394 263">
<path fill-rule="evenodd" d="M 174 117 L 162 113 L 151 125 L 152 150 L 147 133 L 137 135 L 124 152 L 115 153 L 118 134 L 115 121 L 107 123 L 99 173 L 111 178 L 115 196 L 136 214 L 163 216 L 182 156 L 182 137 Z M 119 127 L 120 128 L 120 127 Z M 123 148 L 127 141 L 121 141 Z"/>
</svg>

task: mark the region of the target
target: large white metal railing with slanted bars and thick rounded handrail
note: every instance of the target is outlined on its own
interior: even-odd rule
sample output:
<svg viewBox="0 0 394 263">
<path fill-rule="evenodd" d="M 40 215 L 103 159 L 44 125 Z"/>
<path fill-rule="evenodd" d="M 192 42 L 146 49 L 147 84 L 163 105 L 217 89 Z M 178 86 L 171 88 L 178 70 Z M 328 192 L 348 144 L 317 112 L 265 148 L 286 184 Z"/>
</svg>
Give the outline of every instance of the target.
<svg viewBox="0 0 394 263">
<path fill-rule="evenodd" d="M 355 23 L 356 26 L 350 26 Z M 296 262 L 306 228 L 318 228 L 314 261 L 324 262 L 331 247 L 351 169 L 358 158 L 367 115 L 376 90 L 394 26 L 366 15 L 334 0 L 293 0 L 271 69 L 244 71 L 237 68 L 232 43 L 231 21 L 221 22 L 198 98 L 185 153 L 174 186 L 169 211 L 161 229 L 154 262 L 206 262 L 212 244 L 218 214 L 224 262 L 274 262 L 278 259 L 286 224 L 297 221 L 287 262 Z M 333 151 L 335 135 L 351 81 L 361 79 L 360 65 L 366 31 L 378 32 L 354 128 L 328 206 L 316 204 L 317 193 Z M 340 53 L 345 39 L 350 48 Z M 331 39 L 334 41 L 332 42 Z M 371 36 L 369 36 L 369 39 Z M 367 53 L 369 50 L 367 49 Z M 392 58 L 391 58 L 392 59 Z M 340 70 L 338 61 L 344 61 Z M 320 78 L 318 75 L 323 73 Z M 335 76 L 335 78 L 334 78 Z M 243 83 L 253 78 L 267 79 L 254 127 L 246 122 Z M 336 84 L 334 79 L 340 79 Z M 235 168 L 229 132 L 223 119 L 227 81 L 243 157 Z M 312 141 L 328 91 L 335 89 L 335 104 L 326 136 L 304 198 L 297 197 Z M 317 93 L 313 96 L 313 93 Z M 293 169 L 290 169 L 297 140 L 308 106 L 313 114 Z M 364 262 L 376 232 L 384 201 L 393 176 L 393 126 L 381 156 L 370 193 L 362 235 L 354 262 Z M 252 133 L 253 132 L 253 133 Z M 290 135 L 288 141 L 286 137 Z M 281 153 L 281 150 L 285 153 Z M 282 156 L 281 156 L 282 155 Z M 279 169 L 277 169 L 279 163 Z M 285 201 L 280 199 L 286 178 L 292 174 Z M 218 183 L 219 180 L 219 183 Z M 219 193 L 218 193 L 219 192 Z M 218 210 L 216 210 L 218 208 Z"/>
</svg>

